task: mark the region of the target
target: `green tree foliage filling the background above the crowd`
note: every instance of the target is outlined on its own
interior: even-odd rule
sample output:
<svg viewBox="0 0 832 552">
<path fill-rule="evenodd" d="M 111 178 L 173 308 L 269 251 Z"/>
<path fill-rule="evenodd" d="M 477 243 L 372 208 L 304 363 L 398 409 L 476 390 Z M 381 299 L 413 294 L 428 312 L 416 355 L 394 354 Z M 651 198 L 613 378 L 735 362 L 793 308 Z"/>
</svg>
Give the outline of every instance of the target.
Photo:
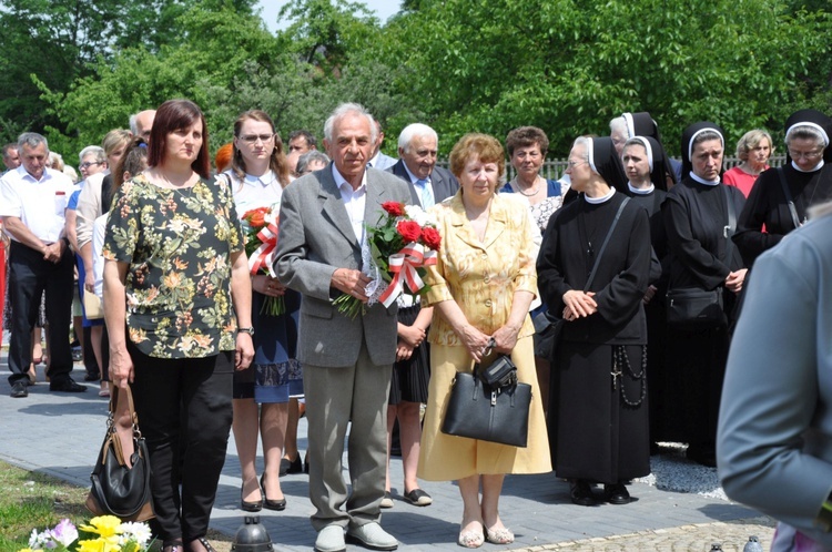
<svg viewBox="0 0 832 552">
<path fill-rule="evenodd" d="M 300 0 L 271 34 L 255 0 L 9 0 L 0 21 L 0 135 L 44 130 L 69 155 L 171 98 L 205 111 L 212 149 L 262 109 L 285 136 L 321 134 L 364 104 L 392 139 L 408 123 L 447 154 L 479 131 L 532 124 L 552 156 L 611 117 L 649 111 L 678 154 L 682 129 L 721 124 L 732 143 L 779 131 L 795 109 L 832 111 L 826 0 L 407 0 L 381 27 L 359 2 Z M 775 139 L 777 140 L 777 139 Z"/>
</svg>

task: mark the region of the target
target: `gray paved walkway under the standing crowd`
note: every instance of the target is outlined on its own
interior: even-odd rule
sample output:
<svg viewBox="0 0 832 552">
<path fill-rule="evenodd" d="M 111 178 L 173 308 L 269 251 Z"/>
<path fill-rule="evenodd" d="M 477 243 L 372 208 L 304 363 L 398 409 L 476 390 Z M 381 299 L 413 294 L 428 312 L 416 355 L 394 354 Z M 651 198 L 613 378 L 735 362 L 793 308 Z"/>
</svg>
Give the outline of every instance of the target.
<svg viewBox="0 0 832 552">
<path fill-rule="evenodd" d="M 87 487 L 91 464 L 98 454 L 106 416 L 106 400 L 98 386 L 85 393 L 50 392 L 39 367 L 39 382 L 29 397 L 9 397 L 6 352 L 0 357 L 0 460 L 55 476 Z M 83 369 L 73 372 L 82 380 Z M 301 420 L 300 435 L 306 435 Z M 305 450 L 301 439 L 300 448 Z M 346 463 L 346 459 L 345 459 Z M 402 489 L 402 462 L 393 460 L 395 507 L 384 511 L 384 527 L 399 539 L 402 551 L 455 551 L 461 517 L 461 500 L 451 483 L 424 482 L 433 505 L 415 508 L 396 500 Z M 276 550 L 310 551 L 315 533 L 308 522 L 308 477 L 282 480 L 288 507 L 283 512 L 262 512 Z M 672 487 L 672 484 L 659 487 Z M 233 535 L 243 521 L 240 504 L 239 463 L 233 437 L 214 512 L 213 529 Z M 768 550 L 771 522 L 757 512 L 723 500 L 699 494 L 659 490 L 643 483 L 630 485 L 636 498 L 629 505 L 576 507 L 569 501 L 568 484 L 554 474 L 509 476 L 500 514 L 517 540 L 511 546 L 486 544 L 484 550 L 568 551 L 708 551 L 721 542 L 724 551 L 741 551 L 749 534 L 758 534 Z M 348 546 L 348 551 L 363 550 Z"/>
</svg>

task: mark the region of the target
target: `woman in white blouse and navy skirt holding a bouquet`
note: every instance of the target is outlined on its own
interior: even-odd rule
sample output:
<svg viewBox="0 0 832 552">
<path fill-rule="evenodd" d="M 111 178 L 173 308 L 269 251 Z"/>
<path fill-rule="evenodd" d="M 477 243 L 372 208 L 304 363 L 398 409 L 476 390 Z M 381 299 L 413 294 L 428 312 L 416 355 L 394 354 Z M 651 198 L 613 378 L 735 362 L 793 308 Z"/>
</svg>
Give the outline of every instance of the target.
<svg viewBox="0 0 832 552">
<path fill-rule="evenodd" d="M 286 436 L 288 399 L 303 395 L 301 367 L 295 359 L 300 295 L 287 290 L 273 273 L 271 262 L 257 253 L 258 228 L 276 226 L 283 188 L 288 184 L 288 164 L 283 142 L 272 119 L 262 111 L 247 111 L 234 123 L 231 168 L 221 176 L 231 183 L 234 204 L 246 231 L 246 252 L 252 274 L 254 362 L 234 375 L 234 441 L 243 487 L 243 510 L 256 512 L 286 508 L 281 491 L 280 467 Z M 262 234 L 261 234 L 262 235 Z M 258 260 L 268 265 L 257 268 Z M 254 265 L 254 266 L 253 266 Z M 257 435 L 263 441 L 263 477 L 257 480 Z"/>
</svg>

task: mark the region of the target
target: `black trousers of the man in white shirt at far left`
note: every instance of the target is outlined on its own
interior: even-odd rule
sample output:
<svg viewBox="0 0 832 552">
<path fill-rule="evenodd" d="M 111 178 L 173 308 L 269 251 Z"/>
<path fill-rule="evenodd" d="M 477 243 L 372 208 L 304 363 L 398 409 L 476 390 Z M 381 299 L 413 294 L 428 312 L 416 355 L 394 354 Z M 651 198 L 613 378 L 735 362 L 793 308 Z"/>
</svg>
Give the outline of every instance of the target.
<svg viewBox="0 0 832 552">
<path fill-rule="evenodd" d="M 72 371 L 69 343 L 72 321 L 72 285 L 74 262 L 69 247 L 58 263 L 43 259 L 40 252 L 18 242 L 9 251 L 9 300 L 11 300 L 11 337 L 9 340 L 9 384 L 26 379 L 32 362 L 32 329 L 38 320 L 40 298 L 45 292 L 47 347 L 49 377 L 63 381 Z"/>
</svg>

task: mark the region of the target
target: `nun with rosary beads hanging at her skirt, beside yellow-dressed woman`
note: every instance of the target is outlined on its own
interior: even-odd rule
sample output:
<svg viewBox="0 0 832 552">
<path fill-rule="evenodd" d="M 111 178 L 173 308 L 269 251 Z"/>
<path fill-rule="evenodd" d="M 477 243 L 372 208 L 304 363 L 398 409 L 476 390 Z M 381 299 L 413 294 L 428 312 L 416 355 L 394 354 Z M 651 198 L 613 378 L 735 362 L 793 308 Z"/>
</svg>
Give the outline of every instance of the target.
<svg viewBox="0 0 832 552">
<path fill-rule="evenodd" d="M 650 270 L 647 212 L 627 198 L 609 137 L 579 137 L 567 173 L 580 196 L 552 217 L 537 260 L 540 298 L 564 329 L 552 359 L 549 435 L 572 502 L 626 504 L 625 481 L 650 472 L 643 297 Z M 595 278 L 585 292 L 596 259 Z"/>
</svg>

